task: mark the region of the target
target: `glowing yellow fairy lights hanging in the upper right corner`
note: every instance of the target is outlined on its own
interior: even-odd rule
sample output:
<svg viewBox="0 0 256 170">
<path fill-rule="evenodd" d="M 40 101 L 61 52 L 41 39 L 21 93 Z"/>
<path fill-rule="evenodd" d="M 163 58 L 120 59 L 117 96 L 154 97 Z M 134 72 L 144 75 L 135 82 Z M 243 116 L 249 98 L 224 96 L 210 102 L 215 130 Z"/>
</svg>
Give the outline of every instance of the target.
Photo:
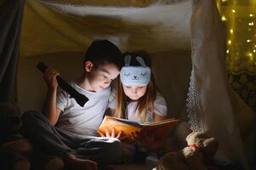
<svg viewBox="0 0 256 170">
<path fill-rule="evenodd" d="M 226 26 L 226 69 L 256 74 L 256 0 L 217 0 Z"/>
</svg>

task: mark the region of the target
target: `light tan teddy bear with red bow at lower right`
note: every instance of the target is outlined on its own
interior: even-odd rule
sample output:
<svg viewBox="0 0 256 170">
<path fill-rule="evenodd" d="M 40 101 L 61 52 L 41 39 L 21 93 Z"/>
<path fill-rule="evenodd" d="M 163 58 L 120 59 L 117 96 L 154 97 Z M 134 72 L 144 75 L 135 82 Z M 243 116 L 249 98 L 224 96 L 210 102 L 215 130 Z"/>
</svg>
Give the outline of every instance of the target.
<svg viewBox="0 0 256 170">
<path fill-rule="evenodd" d="M 213 163 L 213 156 L 219 148 L 217 139 L 209 138 L 208 133 L 192 132 L 185 140 L 187 146 L 183 150 L 162 156 L 155 169 L 208 170 L 207 165 Z"/>
</svg>

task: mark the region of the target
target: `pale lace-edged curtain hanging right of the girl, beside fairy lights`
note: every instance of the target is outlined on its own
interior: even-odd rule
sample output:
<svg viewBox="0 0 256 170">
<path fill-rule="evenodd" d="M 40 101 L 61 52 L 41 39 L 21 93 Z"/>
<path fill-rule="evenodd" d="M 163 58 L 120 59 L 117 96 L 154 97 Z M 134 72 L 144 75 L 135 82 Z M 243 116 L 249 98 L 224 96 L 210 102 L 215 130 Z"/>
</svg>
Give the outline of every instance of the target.
<svg viewBox="0 0 256 170">
<path fill-rule="evenodd" d="M 191 50 L 193 70 L 189 96 L 193 98 L 189 100 L 192 101 L 189 116 L 193 130 L 209 130 L 219 139 L 220 156 L 240 160 L 243 167 L 249 169 L 236 123 L 242 120 L 235 119 L 225 72 L 225 30 L 214 1 L 194 1 Z"/>
</svg>

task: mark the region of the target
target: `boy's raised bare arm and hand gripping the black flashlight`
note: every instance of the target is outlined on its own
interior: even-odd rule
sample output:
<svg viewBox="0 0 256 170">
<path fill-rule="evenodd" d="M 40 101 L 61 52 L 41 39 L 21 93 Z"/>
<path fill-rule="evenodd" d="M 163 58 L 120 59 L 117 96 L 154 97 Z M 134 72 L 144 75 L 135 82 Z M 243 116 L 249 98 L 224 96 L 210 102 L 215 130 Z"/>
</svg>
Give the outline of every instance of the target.
<svg viewBox="0 0 256 170">
<path fill-rule="evenodd" d="M 60 109 L 56 107 L 56 95 L 58 82 L 56 77 L 59 72 L 53 68 L 48 68 L 43 75 L 45 82 L 48 84 L 47 96 L 43 107 L 43 115 L 48 118 L 48 122 L 54 126 L 60 116 Z"/>
</svg>

